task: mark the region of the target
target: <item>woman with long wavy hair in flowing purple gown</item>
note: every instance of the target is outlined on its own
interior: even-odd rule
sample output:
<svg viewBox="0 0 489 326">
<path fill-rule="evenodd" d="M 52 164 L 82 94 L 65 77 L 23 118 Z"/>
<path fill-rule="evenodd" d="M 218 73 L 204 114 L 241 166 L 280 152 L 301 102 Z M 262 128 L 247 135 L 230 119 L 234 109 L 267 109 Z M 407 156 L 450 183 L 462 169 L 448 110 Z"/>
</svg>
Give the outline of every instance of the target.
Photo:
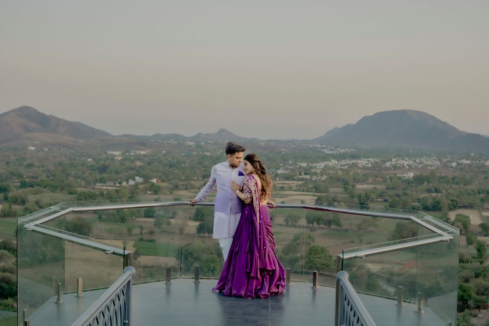
<svg viewBox="0 0 489 326">
<path fill-rule="evenodd" d="M 233 192 L 243 202 L 221 277 L 213 291 L 246 299 L 267 298 L 285 290 L 285 269 L 275 254 L 270 212 L 267 204 L 272 181 L 256 154 L 244 157 L 244 178 L 240 186 L 232 181 Z"/>
</svg>

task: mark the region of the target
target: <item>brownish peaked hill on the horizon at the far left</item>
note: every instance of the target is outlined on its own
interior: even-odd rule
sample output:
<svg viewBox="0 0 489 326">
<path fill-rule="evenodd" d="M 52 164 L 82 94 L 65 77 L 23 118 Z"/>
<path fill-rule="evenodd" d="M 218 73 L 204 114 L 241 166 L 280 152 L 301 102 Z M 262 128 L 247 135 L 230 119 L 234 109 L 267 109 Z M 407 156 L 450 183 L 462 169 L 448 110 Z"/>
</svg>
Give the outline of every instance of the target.
<svg viewBox="0 0 489 326">
<path fill-rule="evenodd" d="M 33 133 L 50 140 L 63 136 L 69 141 L 111 136 L 106 131 L 47 115 L 31 107 L 20 107 L 0 114 L 0 142 L 32 138 L 30 134 Z"/>
</svg>

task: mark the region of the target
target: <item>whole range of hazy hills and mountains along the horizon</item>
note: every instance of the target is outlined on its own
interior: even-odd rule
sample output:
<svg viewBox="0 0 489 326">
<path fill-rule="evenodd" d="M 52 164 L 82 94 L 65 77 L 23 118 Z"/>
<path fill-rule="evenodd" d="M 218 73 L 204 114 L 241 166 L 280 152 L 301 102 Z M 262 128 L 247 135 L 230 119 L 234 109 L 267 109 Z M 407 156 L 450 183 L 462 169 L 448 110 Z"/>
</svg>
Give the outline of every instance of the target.
<svg viewBox="0 0 489 326">
<path fill-rule="evenodd" d="M 111 135 L 79 122 L 67 121 L 46 115 L 31 107 L 20 107 L 0 114 L 0 145 L 19 146 L 33 141 L 49 145 L 76 146 L 87 142 L 104 144 L 131 144 L 144 146 L 144 141 L 188 140 L 257 142 L 257 138 L 235 135 L 226 129 L 215 133 L 197 133 L 183 136 L 178 133 L 151 136 L 132 134 Z M 305 140 L 307 141 L 307 140 Z M 411 147 L 427 149 L 456 149 L 488 151 L 489 137 L 468 133 L 417 110 L 392 110 L 364 116 L 355 124 L 329 130 L 324 135 L 309 140 L 327 145 L 355 145 L 366 147 Z"/>
</svg>

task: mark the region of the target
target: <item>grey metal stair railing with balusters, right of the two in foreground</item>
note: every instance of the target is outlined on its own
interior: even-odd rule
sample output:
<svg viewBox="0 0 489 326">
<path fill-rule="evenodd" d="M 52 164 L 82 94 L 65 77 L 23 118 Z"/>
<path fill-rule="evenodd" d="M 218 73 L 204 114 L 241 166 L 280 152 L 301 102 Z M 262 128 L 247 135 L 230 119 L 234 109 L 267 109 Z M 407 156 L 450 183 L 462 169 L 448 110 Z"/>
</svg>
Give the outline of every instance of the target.
<svg viewBox="0 0 489 326">
<path fill-rule="evenodd" d="M 336 274 L 335 308 L 335 326 L 376 326 L 345 271 Z"/>
</svg>

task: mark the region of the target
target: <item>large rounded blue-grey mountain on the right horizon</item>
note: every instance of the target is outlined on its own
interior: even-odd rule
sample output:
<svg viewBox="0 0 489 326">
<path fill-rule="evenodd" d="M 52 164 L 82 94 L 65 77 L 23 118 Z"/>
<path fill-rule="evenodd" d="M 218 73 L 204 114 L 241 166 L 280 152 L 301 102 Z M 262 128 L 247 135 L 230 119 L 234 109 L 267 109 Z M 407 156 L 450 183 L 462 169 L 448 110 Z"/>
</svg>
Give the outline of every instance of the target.
<svg viewBox="0 0 489 326">
<path fill-rule="evenodd" d="M 405 146 L 439 149 L 489 150 L 489 138 L 468 133 L 416 110 L 393 110 L 361 118 L 313 139 L 322 144 Z"/>
</svg>

